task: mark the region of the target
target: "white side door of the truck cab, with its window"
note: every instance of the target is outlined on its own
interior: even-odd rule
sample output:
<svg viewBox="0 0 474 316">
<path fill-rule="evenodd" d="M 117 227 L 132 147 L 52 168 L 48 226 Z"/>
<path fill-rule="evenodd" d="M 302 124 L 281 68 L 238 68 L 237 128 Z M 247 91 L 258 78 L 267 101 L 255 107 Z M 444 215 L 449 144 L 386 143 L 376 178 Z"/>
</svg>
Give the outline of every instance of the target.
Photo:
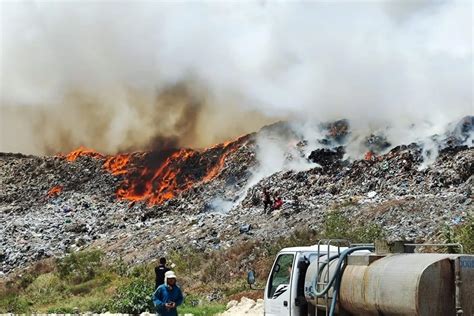
<svg viewBox="0 0 474 316">
<path fill-rule="evenodd" d="M 265 315 L 290 316 L 291 270 L 294 254 L 280 254 L 273 265 L 265 293 Z"/>
</svg>

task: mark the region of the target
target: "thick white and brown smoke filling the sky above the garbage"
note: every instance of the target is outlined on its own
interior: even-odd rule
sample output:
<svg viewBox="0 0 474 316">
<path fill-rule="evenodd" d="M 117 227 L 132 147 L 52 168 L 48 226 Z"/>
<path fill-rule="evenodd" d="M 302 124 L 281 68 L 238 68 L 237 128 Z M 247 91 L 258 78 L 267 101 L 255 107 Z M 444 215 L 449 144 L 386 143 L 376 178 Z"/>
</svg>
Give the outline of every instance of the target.
<svg viewBox="0 0 474 316">
<path fill-rule="evenodd" d="M 472 2 L 2 2 L 0 151 L 199 147 L 281 118 L 473 111 Z"/>
</svg>

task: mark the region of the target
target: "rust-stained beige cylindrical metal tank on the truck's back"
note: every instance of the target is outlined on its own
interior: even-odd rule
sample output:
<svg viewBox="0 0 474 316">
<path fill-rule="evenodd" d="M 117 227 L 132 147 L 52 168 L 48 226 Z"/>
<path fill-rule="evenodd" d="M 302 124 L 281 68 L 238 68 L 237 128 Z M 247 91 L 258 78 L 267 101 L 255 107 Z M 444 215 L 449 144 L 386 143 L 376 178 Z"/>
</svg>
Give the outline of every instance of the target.
<svg viewBox="0 0 474 316">
<path fill-rule="evenodd" d="M 334 266 L 330 265 L 330 274 Z M 319 285 L 316 275 L 318 266 L 313 262 L 305 278 L 306 299 L 324 309 L 328 302 L 307 291 L 328 280 L 325 269 L 319 273 Z M 341 315 L 474 315 L 474 256 L 350 255 L 341 278 L 338 310 Z"/>
</svg>

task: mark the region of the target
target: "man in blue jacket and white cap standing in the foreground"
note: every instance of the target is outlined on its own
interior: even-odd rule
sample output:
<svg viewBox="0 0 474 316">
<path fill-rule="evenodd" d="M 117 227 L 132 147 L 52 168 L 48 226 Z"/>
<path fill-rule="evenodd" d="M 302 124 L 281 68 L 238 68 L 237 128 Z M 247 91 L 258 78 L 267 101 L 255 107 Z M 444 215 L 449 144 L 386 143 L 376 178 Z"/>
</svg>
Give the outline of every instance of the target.
<svg viewBox="0 0 474 316">
<path fill-rule="evenodd" d="M 153 293 L 153 305 L 158 316 L 178 316 L 177 307 L 183 303 L 183 293 L 176 285 L 176 274 L 173 271 L 165 273 L 165 283 Z"/>
</svg>

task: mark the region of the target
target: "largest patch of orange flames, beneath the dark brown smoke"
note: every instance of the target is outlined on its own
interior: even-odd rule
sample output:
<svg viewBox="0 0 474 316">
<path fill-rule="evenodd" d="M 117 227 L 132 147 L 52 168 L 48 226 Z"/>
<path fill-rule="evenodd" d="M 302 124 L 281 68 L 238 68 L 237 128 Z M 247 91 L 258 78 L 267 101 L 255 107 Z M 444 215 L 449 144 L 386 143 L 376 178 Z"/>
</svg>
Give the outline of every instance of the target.
<svg viewBox="0 0 474 316">
<path fill-rule="evenodd" d="M 82 156 L 103 159 L 105 170 L 123 177 L 116 192 L 119 199 L 146 201 L 148 205 L 157 205 L 197 183 L 215 179 L 224 168 L 227 157 L 238 149 L 242 139 L 203 151 L 171 149 L 104 156 L 81 147 L 62 157 L 68 161 Z"/>
</svg>

